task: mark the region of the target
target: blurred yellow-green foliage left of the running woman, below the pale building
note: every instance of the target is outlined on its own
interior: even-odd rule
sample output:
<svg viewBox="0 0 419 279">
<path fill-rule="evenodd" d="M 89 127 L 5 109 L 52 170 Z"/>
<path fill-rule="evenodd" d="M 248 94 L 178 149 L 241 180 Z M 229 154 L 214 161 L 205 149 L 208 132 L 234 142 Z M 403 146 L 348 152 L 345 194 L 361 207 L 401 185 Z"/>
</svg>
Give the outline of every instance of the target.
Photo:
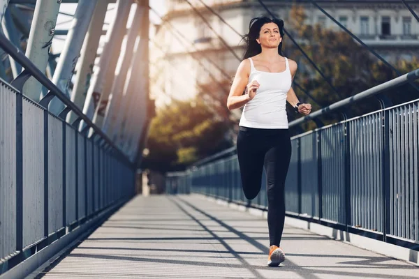
<svg viewBox="0 0 419 279">
<path fill-rule="evenodd" d="M 230 128 L 203 100 L 172 100 L 152 120 L 143 166 L 161 172 L 187 165 L 231 146 Z"/>
</svg>

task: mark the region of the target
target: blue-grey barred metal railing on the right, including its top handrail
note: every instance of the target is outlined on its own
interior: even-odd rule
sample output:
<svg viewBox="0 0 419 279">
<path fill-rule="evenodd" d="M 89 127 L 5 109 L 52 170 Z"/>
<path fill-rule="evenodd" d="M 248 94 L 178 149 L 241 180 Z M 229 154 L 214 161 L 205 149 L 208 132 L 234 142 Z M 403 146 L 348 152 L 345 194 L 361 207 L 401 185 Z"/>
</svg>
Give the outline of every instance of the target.
<svg viewBox="0 0 419 279">
<path fill-rule="evenodd" d="M 382 106 L 291 138 L 288 216 L 419 250 L 419 99 L 388 107 L 380 95 L 418 78 L 419 69 L 289 123 L 293 127 L 344 112 L 371 96 Z M 245 199 L 234 149 L 201 160 L 183 174 L 168 174 L 168 188 L 186 183 L 177 193 L 184 189 L 266 210 L 265 187 L 252 201 Z"/>
</svg>

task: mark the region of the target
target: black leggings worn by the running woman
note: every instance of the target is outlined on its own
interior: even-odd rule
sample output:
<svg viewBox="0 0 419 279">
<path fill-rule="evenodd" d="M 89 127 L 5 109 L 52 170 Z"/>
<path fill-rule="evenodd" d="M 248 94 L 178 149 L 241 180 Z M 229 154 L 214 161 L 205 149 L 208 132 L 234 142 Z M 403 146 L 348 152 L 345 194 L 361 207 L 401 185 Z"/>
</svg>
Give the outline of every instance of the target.
<svg viewBox="0 0 419 279">
<path fill-rule="evenodd" d="M 285 221 L 285 179 L 291 159 L 288 129 L 240 127 L 237 157 L 247 199 L 254 199 L 258 195 L 265 166 L 270 246 L 279 246 Z"/>
</svg>

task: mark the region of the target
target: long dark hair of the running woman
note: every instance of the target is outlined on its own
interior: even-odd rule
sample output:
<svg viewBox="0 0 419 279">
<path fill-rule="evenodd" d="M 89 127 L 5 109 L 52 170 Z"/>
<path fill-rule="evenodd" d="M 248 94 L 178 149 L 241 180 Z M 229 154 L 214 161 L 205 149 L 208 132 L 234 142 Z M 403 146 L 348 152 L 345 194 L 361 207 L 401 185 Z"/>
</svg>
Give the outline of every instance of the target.
<svg viewBox="0 0 419 279">
<path fill-rule="evenodd" d="M 278 53 L 282 55 L 282 43 L 284 42 L 284 21 L 277 18 L 270 17 L 255 17 L 250 21 L 249 33 L 244 36 L 243 40 L 246 43 L 246 52 L 244 52 L 243 59 L 247 59 L 251 56 L 255 56 L 262 52 L 262 47 L 256 41 L 259 38 L 260 29 L 264 24 L 273 22 L 279 27 L 279 33 L 281 34 L 281 43 L 278 46 Z"/>
</svg>

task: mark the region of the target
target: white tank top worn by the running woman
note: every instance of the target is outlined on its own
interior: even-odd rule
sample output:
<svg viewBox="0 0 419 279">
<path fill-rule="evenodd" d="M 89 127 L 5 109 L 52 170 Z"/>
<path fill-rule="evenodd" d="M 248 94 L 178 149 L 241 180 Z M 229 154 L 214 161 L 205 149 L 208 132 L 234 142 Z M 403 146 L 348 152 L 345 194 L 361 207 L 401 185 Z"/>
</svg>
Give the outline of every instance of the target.
<svg viewBox="0 0 419 279">
<path fill-rule="evenodd" d="M 239 126 L 249 128 L 286 129 L 286 94 L 291 89 L 292 77 L 288 59 L 286 69 L 281 73 L 256 70 L 251 58 L 249 82 L 256 80 L 260 86 L 256 96 L 251 99 L 242 112 Z"/>
</svg>

